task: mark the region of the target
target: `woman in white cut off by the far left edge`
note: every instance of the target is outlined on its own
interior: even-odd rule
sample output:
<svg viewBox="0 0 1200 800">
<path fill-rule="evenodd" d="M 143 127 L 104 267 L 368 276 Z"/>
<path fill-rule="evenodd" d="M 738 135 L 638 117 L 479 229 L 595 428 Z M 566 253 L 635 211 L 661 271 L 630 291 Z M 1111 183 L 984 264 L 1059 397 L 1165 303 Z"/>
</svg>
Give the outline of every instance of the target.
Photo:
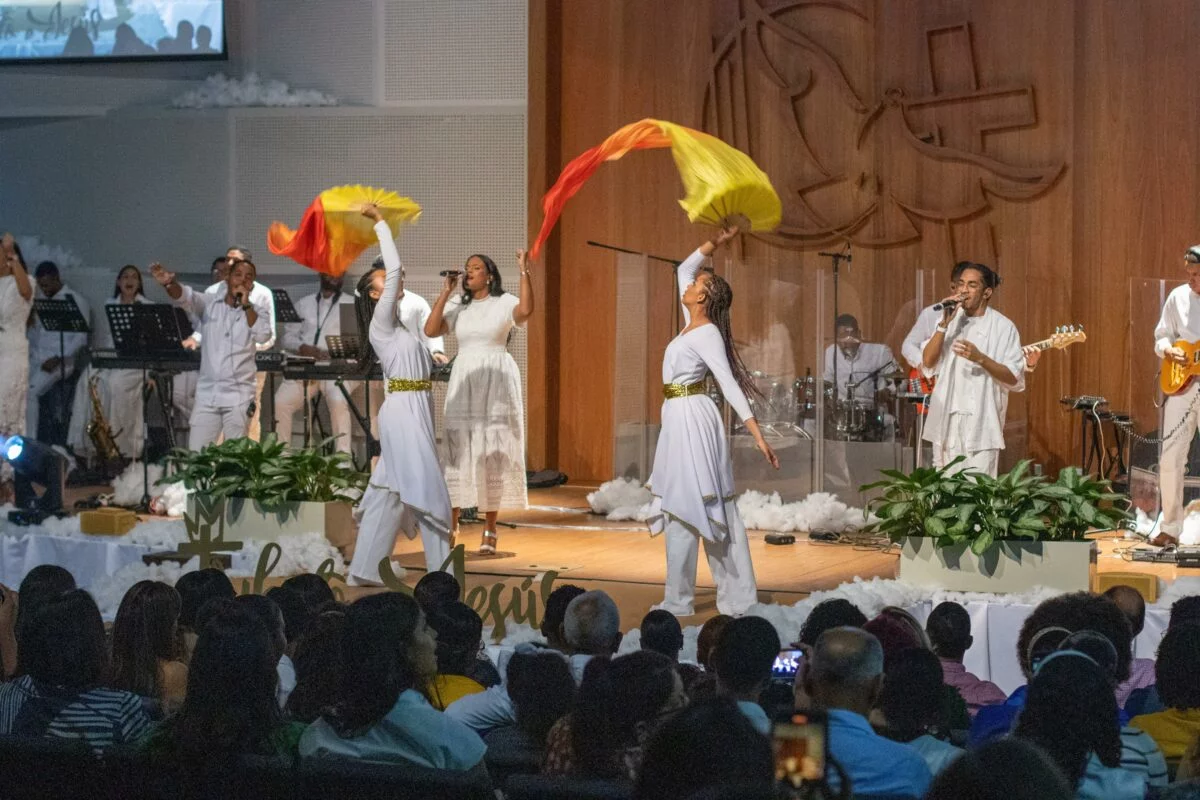
<svg viewBox="0 0 1200 800">
<path fill-rule="evenodd" d="M 25 433 L 29 339 L 25 323 L 34 306 L 34 283 L 12 234 L 0 239 L 0 437 Z M 0 503 L 11 503 L 12 467 L 0 463 Z"/>
</svg>

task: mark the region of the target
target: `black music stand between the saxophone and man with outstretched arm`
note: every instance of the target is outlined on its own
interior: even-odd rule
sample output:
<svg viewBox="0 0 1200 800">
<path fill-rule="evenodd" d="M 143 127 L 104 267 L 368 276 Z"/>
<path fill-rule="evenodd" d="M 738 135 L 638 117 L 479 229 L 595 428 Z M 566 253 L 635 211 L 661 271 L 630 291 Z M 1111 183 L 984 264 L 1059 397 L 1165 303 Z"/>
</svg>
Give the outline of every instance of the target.
<svg viewBox="0 0 1200 800">
<path fill-rule="evenodd" d="M 104 306 L 108 326 L 113 331 L 113 347 L 124 357 L 142 363 L 142 385 L 145 386 L 150 368 L 149 357 L 184 351 L 184 338 L 192 335 L 187 314 L 178 306 L 166 303 L 115 303 Z M 142 392 L 142 507 L 150 511 L 150 462 L 145 457 L 149 431 L 150 395 Z"/>
</svg>

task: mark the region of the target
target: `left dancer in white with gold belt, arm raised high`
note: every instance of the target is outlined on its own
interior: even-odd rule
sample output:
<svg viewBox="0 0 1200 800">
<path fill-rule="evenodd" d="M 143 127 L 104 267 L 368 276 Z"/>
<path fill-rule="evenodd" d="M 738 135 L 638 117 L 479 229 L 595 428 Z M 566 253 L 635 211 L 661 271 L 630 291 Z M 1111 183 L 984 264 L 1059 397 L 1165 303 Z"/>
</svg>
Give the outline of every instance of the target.
<svg viewBox="0 0 1200 800">
<path fill-rule="evenodd" d="M 388 396 L 379 409 L 382 458 L 355 511 L 359 539 L 348 581 L 379 585 L 379 563 L 391 557 L 401 533 L 413 539 L 420 530 L 426 570 L 442 569 L 450 555 L 450 495 L 433 431 L 433 357 L 420 336 L 397 317 L 402 266 L 391 230 L 374 205 L 367 205 L 362 215 L 376 221 L 386 277 L 377 270 L 365 275 L 356 302 L 371 303 L 368 295 L 372 289 L 378 291 L 371 314 L 371 347 L 383 367 Z M 382 291 L 373 285 L 377 283 L 383 283 Z"/>
</svg>

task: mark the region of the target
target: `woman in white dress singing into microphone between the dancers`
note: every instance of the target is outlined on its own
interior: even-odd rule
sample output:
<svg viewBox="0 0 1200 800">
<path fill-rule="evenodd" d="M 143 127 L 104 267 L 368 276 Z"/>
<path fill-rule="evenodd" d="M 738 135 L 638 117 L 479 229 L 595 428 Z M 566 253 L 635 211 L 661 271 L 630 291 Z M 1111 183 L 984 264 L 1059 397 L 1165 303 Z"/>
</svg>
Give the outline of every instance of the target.
<svg viewBox="0 0 1200 800">
<path fill-rule="evenodd" d="M 517 251 L 521 299 L 504 291 L 500 271 L 486 255 L 472 255 L 462 276 L 446 278 L 425 323 L 426 336 L 454 332 L 458 356 L 450 372 L 443 416 L 443 461 L 454 506 L 474 506 L 486 517 L 479 552 L 496 553 L 500 509 L 524 509 L 524 401 L 521 371 L 508 351 L 509 333 L 533 315 L 529 257 Z M 451 297 L 451 294 L 454 296 Z"/>
</svg>

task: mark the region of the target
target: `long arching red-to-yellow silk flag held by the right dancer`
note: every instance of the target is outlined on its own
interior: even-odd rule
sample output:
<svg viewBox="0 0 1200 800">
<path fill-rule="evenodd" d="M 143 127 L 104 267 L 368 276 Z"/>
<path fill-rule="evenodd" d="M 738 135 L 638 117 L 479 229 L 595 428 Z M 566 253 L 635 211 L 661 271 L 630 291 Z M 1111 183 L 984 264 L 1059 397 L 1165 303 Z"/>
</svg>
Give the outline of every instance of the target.
<svg viewBox="0 0 1200 800">
<path fill-rule="evenodd" d="M 679 205 L 690 221 L 749 224 L 751 230 L 774 230 L 779 225 L 784 212 L 779 194 L 750 156 L 703 131 L 646 119 L 626 125 L 563 168 L 541 199 L 545 218 L 530 257 L 538 257 L 563 206 L 600 164 L 617 161 L 630 150 L 653 148 L 671 148 L 685 192 Z"/>
</svg>

